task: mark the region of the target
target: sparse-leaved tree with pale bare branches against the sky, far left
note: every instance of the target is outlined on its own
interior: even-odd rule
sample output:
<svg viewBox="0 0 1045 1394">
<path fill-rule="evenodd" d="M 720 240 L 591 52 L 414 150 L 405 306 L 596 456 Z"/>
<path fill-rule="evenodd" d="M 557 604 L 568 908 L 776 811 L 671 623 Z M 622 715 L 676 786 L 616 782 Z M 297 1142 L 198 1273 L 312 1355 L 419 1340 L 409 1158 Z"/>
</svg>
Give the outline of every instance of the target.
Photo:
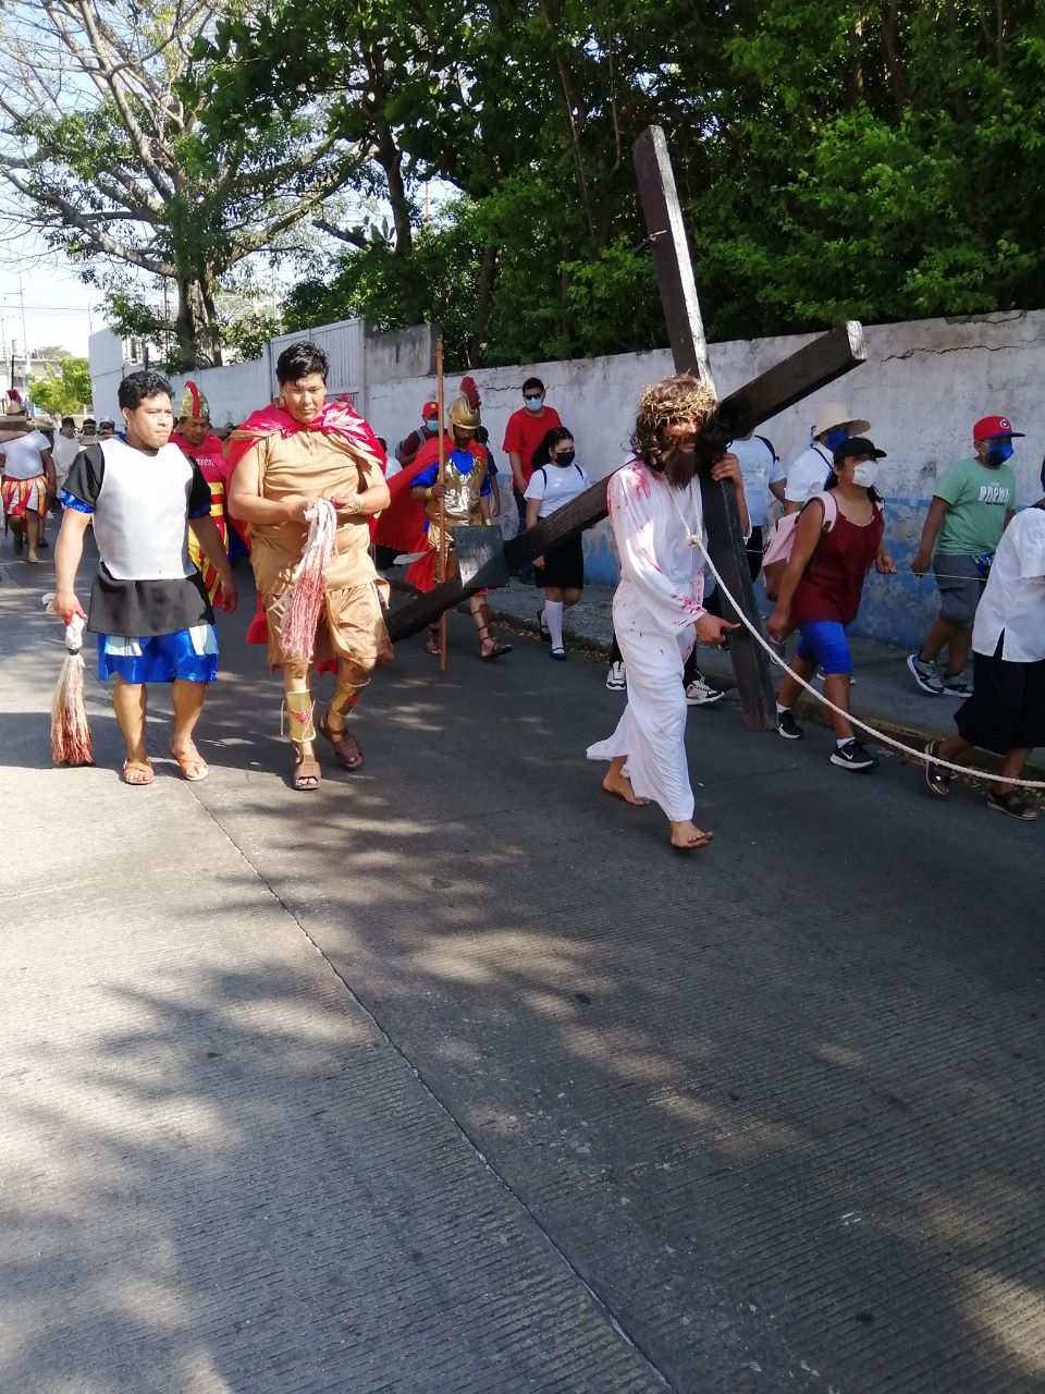
<svg viewBox="0 0 1045 1394">
<path fill-rule="evenodd" d="M 199 120 L 178 88 L 188 50 L 234 3 L 13 0 L 0 15 L 0 180 L 14 210 L 120 297 L 120 328 L 137 316 L 153 337 L 173 330 L 183 367 L 220 362 L 222 277 L 286 245 L 355 163 L 297 102 L 249 135 Z M 127 268 L 170 286 L 173 322 Z"/>
</svg>

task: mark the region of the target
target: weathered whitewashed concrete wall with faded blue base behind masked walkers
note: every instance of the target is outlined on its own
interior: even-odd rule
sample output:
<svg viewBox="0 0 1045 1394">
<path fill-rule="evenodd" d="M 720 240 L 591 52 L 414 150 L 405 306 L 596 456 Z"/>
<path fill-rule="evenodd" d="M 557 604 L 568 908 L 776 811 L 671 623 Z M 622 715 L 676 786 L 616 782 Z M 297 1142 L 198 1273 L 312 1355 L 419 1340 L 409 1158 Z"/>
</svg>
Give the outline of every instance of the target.
<svg viewBox="0 0 1045 1394">
<path fill-rule="evenodd" d="M 871 422 L 869 435 L 888 452 L 881 492 L 888 499 L 888 538 L 901 567 L 910 560 L 936 474 L 971 454 L 973 422 L 988 413 L 1007 415 L 1017 431 L 1013 459 L 1020 503 L 1044 492 L 1045 453 L 1045 311 L 981 315 L 970 319 L 922 319 L 874 325 L 865 330 L 868 360 L 815 397 L 765 422 L 784 461 L 810 439 L 818 401 L 846 401 L 854 418 Z M 779 362 L 814 335 L 712 344 L 711 364 L 722 396 Z M 522 379 L 531 374 L 548 388 L 577 439 L 578 460 L 601 478 L 627 454 L 627 439 L 642 388 L 672 371 L 670 354 L 621 354 L 612 358 L 543 362 L 475 372 L 482 420 L 499 450 L 504 424 L 521 406 Z M 451 396 L 458 378 L 447 382 Z M 366 414 L 390 446 L 421 420 L 421 403 L 435 393 L 431 376 L 366 383 Z M 500 453 L 502 470 L 507 461 Z M 605 524 L 585 537 L 589 580 L 614 579 Z M 889 580 L 869 577 L 857 629 L 893 643 L 913 643 L 935 612 L 932 581 L 910 572 Z"/>
</svg>

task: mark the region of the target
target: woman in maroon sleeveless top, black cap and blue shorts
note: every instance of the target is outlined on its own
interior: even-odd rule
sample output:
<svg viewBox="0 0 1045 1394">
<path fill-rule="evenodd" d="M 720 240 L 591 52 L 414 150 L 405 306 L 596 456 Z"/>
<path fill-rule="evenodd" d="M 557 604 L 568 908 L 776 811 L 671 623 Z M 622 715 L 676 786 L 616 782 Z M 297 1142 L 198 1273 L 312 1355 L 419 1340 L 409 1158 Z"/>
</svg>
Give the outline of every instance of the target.
<svg viewBox="0 0 1045 1394">
<path fill-rule="evenodd" d="M 825 697 L 843 711 L 850 710 L 853 657 L 846 627 L 857 618 L 864 577 L 871 567 L 886 574 L 896 572 L 885 549 L 882 500 L 874 488 L 882 459 L 885 450 L 876 450 L 864 436 L 844 441 L 835 450 L 826 484 L 830 499 L 825 503 L 825 495 L 815 493 L 796 526 L 776 609 L 766 626 L 777 643 L 796 625 L 801 634 L 776 703 L 784 740 L 798 740 L 803 735 L 791 715 L 791 704 L 801 691 L 791 673 L 808 683 L 816 668 L 822 668 Z M 854 737 L 846 717 L 832 712 L 830 723 L 835 728 L 830 763 L 843 769 L 874 769 L 878 761 Z"/>
</svg>

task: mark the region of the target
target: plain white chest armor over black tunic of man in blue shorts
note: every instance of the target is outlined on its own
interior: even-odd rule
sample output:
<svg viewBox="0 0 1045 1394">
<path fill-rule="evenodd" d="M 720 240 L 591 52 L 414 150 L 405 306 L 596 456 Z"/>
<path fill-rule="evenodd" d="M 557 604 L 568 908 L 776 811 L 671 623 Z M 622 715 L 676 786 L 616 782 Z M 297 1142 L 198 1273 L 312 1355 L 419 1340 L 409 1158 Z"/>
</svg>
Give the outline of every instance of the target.
<svg viewBox="0 0 1045 1394">
<path fill-rule="evenodd" d="M 95 537 L 117 581 L 163 581 L 192 574 L 188 492 L 192 466 L 176 445 L 150 454 L 123 441 L 99 443 L 104 459 L 95 502 Z"/>
</svg>

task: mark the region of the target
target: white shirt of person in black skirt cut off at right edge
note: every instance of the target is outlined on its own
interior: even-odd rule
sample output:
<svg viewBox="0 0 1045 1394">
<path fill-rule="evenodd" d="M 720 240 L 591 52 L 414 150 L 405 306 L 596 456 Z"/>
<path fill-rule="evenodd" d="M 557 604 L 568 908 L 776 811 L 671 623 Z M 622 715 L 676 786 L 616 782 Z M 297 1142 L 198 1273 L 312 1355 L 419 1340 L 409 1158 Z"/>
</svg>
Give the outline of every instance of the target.
<svg viewBox="0 0 1045 1394">
<path fill-rule="evenodd" d="M 1045 512 L 1023 509 L 998 544 L 973 625 L 973 651 L 992 657 L 1005 631 L 1002 658 L 1045 658 Z"/>
</svg>

